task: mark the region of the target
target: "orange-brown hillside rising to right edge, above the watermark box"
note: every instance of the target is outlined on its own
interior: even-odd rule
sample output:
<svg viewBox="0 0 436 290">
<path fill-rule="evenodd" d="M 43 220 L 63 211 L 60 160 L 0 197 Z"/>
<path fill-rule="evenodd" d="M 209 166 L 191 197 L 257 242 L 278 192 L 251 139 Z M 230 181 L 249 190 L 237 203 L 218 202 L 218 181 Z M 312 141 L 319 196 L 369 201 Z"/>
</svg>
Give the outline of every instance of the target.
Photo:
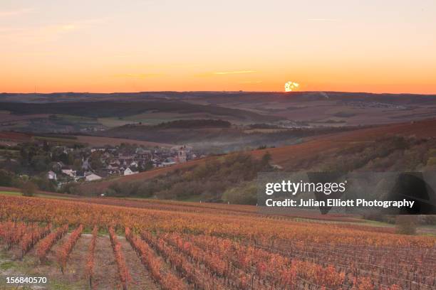
<svg viewBox="0 0 436 290">
<path fill-rule="evenodd" d="M 251 151 L 251 154 L 260 158 L 265 151 L 269 151 L 274 163 L 279 164 L 288 170 L 306 170 L 317 166 L 317 169 L 321 168 L 326 163 L 322 163 L 327 159 L 331 161 L 330 166 L 338 169 L 341 166 L 348 166 L 350 162 L 355 160 L 351 159 L 351 156 L 347 156 L 347 152 L 351 152 L 351 155 L 365 159 L 370 154 L 377 154 L 377 150 L 383 149 L 383 147 L 389 147 L 393 151 L 385 151 L 387 154 L 383 156 L 384 161 L 389 160 L 385 164 L 381 163 L 377 168 L 379 171 L 391 170 L 391 171 L 407 171 L 413 170 L 413 166 L 407 164 L 421 164 L 425 166 L 427 160 L 425 159 L 425 151 L 420 152 L 416 156 L 406 156 L 400 151 L 404 151 L 404 148 L 399 148 L 395 151 L 395 144 L 391 144 L 394 141 L 392 138 L 405 137 L 412 139 L 425 139 L 427 140 L 425 145 L 412 144 L 415 149 L 420 150 L 421 147 L 430 146 L 430 148 L 436 148 L 436 119 L 427 119 L 419 122 L 407 122 L 400 124 L 390 124 L 379 127 L 371 127 L 366 129 L 356 129 L 353 131 L 344 131 L 333 134 L 326 134 L 321 136 L 315 136 L 310 141 L 306 141 L 301 144 L 283 146 L 280 148 L 264 149 Z M 397 140 L 398 141 L 398 140 Z M 398 142 L 401 142 L 399 139 Z M 401 145 L 400 143 L 397 145 Z M 355 149 L 354 151 L 351 149 Z M 364 153 L 365 151 L 365 153 Z M 372 152 L 374 151 L 374 152 Z M 365 156 L 365 154 L 368 154 Z M 392 154 L 392 155 L 390 155 Z M 400 155 L 398 155 L 400 154 Z M 423 156 L 424 155 L 424 156 Z M 422 160 L 418 157 L 421 156 Z M 428 156 L 427 156 L 428 157 Z M 373 158 L 375 158 L 373 156 Z M 372 158 L 368 159 L 360 167 L 364 167 L 368 162 L 372 161 Z M 378 160 L 378 162 L 380 162 Z M 374 163 L 374 161 L 372 161 Z M 368 164 L 368 169 L 371 164 Z"/>
</svg>

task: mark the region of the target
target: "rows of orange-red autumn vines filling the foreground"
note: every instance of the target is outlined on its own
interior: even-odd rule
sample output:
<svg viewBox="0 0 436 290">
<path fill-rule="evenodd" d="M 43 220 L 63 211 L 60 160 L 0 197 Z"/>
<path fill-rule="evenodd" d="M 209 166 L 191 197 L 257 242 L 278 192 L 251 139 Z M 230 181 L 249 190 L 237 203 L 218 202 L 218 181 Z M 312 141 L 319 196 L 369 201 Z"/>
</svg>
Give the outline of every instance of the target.
<svg viewBox="0 0 436 290">
<path fill-rule="evenodd" d="M 67 289 L 436 289 L 436 237 L 249 206 L 114 200 L 2 195 L 1 262 L 31 269 L 1 270 L 1 279 L 43 275 Z"/>
</svg>

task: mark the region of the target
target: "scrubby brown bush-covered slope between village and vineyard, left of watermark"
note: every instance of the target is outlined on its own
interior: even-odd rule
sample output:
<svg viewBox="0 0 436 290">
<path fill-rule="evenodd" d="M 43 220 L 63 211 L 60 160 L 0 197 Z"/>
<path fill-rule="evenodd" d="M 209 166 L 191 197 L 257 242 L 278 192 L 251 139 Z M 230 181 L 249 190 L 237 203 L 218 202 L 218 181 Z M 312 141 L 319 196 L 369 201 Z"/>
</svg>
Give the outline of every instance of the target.
<svg viewBox="0 0 436 290">
<path fill-rule="evenodd" d="M 253 181 L 259 171 L 269 171 L 271 155 L 266 153 L 262 159 L 255 159 L 249 154 L 229 154 L 223 158 L 208 160 L 193 168 L 175 170 L 159 178 L 148 181 L 129 183 L 112 183 L 108 196 L 138 197 L 156 196 L 161 199 L 187 199 L 201 197 L 202 200 L 221 202 L 222 195 L 229 188 L 243 184 L 242 191 L 232 193 L 228 198 L 231 203 L 256 204 L 256 193 L 251 188 L 244 188 Z"/>
</svg>

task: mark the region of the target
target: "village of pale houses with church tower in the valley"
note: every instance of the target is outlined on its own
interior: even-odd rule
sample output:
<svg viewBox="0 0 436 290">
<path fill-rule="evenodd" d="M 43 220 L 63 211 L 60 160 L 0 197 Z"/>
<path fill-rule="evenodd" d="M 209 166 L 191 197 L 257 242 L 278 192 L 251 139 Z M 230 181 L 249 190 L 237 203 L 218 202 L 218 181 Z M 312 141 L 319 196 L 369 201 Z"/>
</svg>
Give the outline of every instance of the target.
<svg viewBox="0 0 436 290">
<path fill-rule="evenodd" d="M 52 150 L 62 151 L 61 154 L 70 160 L 69 165 L 63 161 L 51 163 L 51 170 L 46 173 L 46 178 L 58 186 L 70 182 L 98 181 L 110 176 L 129 176 L 198 158 L 192 147 L 186 145 L 145 148 L 121 144 L 82 149 L 56 146 Z"/>
</svg>

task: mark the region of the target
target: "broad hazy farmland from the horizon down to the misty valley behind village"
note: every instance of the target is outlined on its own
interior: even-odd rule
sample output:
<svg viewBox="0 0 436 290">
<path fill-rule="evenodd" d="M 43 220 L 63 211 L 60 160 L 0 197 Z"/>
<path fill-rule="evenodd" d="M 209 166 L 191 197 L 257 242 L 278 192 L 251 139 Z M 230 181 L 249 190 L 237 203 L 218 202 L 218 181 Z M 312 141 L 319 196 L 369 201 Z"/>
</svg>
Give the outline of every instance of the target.
<svg viewBox="0 0 436 290">
<path fill-rule="evenodd" d="M 294 131 L 298 128 L 348 130 L 436 117 L 435 95 L 140 92 L 4 94 L 1 97 L 0 123 L 1 119 L 5 120 L 1 123 L 2 131 L 87 134 L 157 144 L 187 144 L 202 154 L 296 144 L 301 138 Z M 232 126 L 219 129 L 158 126 L 161 122 L 199 119 L 222 119 Z M 95 144 L 102 143 L 96 139 Z"/>
</svg>

